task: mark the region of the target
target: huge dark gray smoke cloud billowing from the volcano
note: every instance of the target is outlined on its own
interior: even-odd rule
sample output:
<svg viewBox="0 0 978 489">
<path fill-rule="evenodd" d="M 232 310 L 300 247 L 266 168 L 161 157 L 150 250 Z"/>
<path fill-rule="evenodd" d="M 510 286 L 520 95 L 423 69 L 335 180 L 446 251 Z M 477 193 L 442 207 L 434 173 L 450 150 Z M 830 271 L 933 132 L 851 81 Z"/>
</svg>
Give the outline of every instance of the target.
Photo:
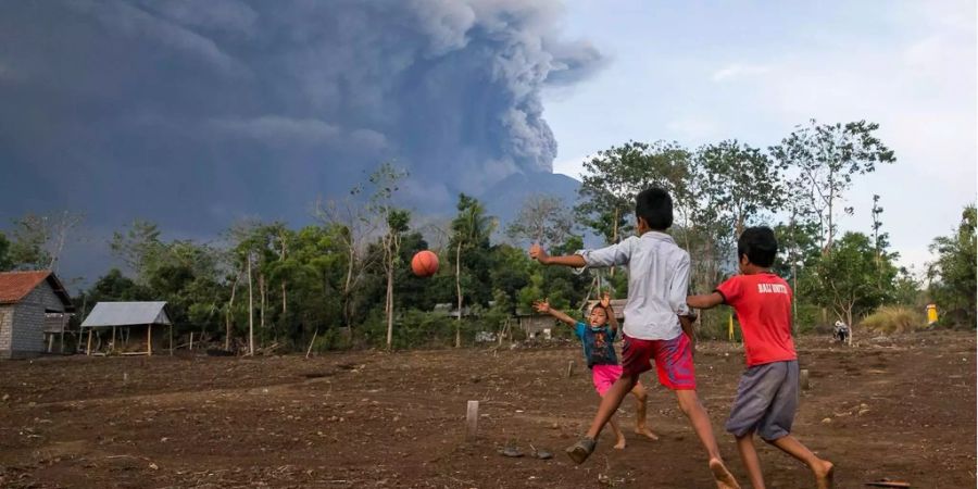
<svg viewBox="0 0 978 489">
<path fill-rule="evenodd" d="M 188 233 L 304 215 L 383 161 L 428 209 L 550 172 L 548 84 L 602 64 L 555 1 L 0 3 L 0 209 Z M 187 216 L 195 220 L 187 222 Z"/>
</svg>

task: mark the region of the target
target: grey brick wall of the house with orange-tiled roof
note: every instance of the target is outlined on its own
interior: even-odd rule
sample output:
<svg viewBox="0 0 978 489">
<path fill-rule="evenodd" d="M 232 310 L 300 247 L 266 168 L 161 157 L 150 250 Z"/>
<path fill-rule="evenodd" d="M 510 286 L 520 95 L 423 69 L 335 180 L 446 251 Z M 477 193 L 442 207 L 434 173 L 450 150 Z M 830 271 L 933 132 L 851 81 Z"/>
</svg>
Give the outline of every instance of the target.
<svg viewBox="0 0 978 489">
<path fill-rule="evenodd" d="M 0 356 L 21 358 L 43 353 L 45 310 L 63 311 L 64 305 L 45 280 L 13 306 L 13 327 L 8 349 Z"/>
</svg>

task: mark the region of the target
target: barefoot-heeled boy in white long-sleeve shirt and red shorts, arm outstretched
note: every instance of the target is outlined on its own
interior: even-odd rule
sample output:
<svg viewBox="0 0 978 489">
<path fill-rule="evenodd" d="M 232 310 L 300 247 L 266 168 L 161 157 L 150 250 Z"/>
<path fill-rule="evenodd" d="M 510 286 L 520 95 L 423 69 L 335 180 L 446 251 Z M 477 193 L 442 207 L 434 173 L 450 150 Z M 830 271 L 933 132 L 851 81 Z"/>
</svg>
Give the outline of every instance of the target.
<svg viewBox="0 0 978 489">
<path fill-rule="evenodd" d="M 530 247 L 530 258 L 544 265 L 628 266 L 622 377 L 601 401 L 585 438 L 568 448 L 567 455 L 578 464 L 588 459 L 601 429 L 638 383 L 639 375 L 652 368 L 654 359 L 660 384 L 676 393 L 679 409 L 706 449 L 717 488 L 739 489 L 724 465 L 710 416 L 697 397 L 694 337 L 686 305 L 689 253 L 665 233 L 673 225 L 673 199 L 663 189 L 645 189 L 636 197 L 635 214 L 639 236 L 617 244 L 566 256 L 550 256 L 539 244 Z"/>
</svg>

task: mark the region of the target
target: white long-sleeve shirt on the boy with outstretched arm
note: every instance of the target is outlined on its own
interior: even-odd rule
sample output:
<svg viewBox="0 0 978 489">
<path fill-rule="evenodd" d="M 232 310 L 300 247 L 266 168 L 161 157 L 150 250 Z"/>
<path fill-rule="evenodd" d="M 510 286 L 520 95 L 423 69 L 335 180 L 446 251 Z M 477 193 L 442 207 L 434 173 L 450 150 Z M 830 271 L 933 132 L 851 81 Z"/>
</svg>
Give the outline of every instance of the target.
<svg viewBox="0 0 978 489">
<path fill-rule="evenodd" d="M 659 231 L 632 236 L 598 250 L 580 250 L 588 267 L 627 265 L 628 302 L 623 330 L 632 338 L 670 340 L 682 334 L 689 314 L 689 253 Z"/>
</svg>

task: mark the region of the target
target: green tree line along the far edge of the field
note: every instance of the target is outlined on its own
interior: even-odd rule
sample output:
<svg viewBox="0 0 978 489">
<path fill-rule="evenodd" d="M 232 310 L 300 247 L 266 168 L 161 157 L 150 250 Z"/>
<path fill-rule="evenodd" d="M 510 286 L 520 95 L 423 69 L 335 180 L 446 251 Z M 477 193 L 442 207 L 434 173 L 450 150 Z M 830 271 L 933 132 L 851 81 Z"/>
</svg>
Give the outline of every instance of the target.
<svg viewBox="0 0 978 489">
<path fill-rule="evenodd" d="M 694 291 L 735 272 L 744 227 L 767 224 L 780 243 L 776 272 L 795 290 L 801 333 L 836 319 L 858 324 L 887 304 L 923 311 L 928 301 L 945 312 L 946 325 L 974 327 L 974 204 L 955 234 L 933 240 L 926 289 L 895 265 L 880 196 L 866 233 L 838 227 L 841 215 L 854 212 L 844 203 L 853 180 L 895 161 L 877 129 L 864 121 L 811 121 L 766 150 L 737 140 L 695 150 L 628 141 L 585 163 L 573 209 L 541 189 L 504 229 L 466 195 L 450 221 L 413 226 L 411 213 L 394 204 L 406 173 L 386 163 L 342 199 L 317 202 L 315 224 L 302 228 L 242 221 L 218 240 L 197 242 L 165 240 L 155 224 L 133 222 L 108 243 L 122 268 L 108 271 L 75 301 L 84 316 L 98 301 L 163 300 L 177 335 L 193 331 L 227 349 L 278 342 L 298 350 L 313 338 L 316 350 L 460 347 L 479 331 L 503 330 L 539 298 L 577 310 L 599 287 L 627 297 L 624 268 L 541 267 L 525 247 L 536 241 L 553 253 L 574 252 L 585 231 L 617 242 L 634 233 L 635 196 L 659 186 L 674 198 L 670 233 L 690 252 Z M 83 222 L 68 212 L 15 220 L 9 237 L 0 234 L 0 269 L 57 267 Z M 441 266 L 418 278 L 409 264 L 425 249 Z M 436 304 L 450 305 L 436 311 Z M 699 334 L 725 337 L 728 314 L 706 312 Z"/>
</svg>

